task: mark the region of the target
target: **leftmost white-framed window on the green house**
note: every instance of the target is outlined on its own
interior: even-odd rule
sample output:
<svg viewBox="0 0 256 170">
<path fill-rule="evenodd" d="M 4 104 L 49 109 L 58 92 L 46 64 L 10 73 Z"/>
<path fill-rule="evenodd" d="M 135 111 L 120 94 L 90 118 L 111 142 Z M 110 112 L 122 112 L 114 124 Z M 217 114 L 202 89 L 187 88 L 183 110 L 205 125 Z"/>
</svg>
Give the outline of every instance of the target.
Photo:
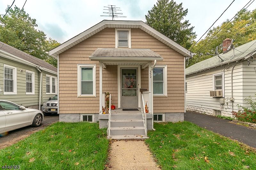
<svg viewBox="0 0 256 170">
<path fill-rule="evenodd" d="M 17 94 L 16 68 L 4 64 L 4 94 Z"/>
</svg>

